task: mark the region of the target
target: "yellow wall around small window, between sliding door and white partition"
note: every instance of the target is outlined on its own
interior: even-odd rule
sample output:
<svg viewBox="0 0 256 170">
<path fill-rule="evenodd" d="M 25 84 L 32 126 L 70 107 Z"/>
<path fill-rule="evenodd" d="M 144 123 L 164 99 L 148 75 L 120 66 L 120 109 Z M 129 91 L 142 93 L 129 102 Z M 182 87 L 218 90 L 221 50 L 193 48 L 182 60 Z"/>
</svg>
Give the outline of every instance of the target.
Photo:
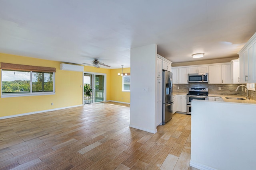
<svg viewBox="0 0 256 170">
<path fill-rule="evenodd" d="M 122 92 L 122 77 L 118 76 L 122 69 L 112 69 L 111 73 L 111 90 L 110 90 L 110 100 L 118 102 L 130 103 L 130 92 Z M 124 68 L 123 72 L 130 72 L 130 68 Z"/>
</svg>

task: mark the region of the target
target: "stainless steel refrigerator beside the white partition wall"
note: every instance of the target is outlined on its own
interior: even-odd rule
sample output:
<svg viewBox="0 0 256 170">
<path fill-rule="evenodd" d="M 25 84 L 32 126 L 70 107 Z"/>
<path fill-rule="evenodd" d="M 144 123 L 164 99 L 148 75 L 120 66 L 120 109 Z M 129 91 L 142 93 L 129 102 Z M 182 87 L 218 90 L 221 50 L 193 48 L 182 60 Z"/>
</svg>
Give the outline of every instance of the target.
<svg viewBox="0 0 256 170">
<path fill-rule="evenodd" d="M 172 72 L 163 71 L 163 122 L 172 119 Z"/>
</svg>

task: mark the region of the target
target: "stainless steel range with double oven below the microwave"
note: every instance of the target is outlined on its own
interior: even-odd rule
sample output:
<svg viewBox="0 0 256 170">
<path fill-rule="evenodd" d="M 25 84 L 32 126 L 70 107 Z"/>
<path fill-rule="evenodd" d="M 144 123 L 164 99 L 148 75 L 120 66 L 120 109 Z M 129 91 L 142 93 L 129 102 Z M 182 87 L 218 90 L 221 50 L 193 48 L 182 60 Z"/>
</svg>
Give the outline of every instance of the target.
<svg viewBox="0 0 256 170">
<path fill-rule="evenodd" d="M 191 101 L 208 100 L 208 88 L 189 88 L 187 94 L 187 114 L 191 115 Z"/>
</svg>

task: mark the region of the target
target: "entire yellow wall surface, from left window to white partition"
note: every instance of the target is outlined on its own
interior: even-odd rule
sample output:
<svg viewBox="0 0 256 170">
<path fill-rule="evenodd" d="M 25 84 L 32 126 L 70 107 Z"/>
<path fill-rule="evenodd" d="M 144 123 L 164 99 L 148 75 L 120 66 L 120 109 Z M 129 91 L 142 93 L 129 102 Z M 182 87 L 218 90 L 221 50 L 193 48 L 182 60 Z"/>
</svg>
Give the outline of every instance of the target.
<svg viewBox="0 0 256 170">
<path fill-rule="evenodd" d="M 0 53 L 0 62 L 56 68 L 54 95 L 0 98 L 0 117 L 83 104 L 82 72 L 60 70 L 60 62 L 57 61 L 4 53 Z M 121 73 L 121 68 L 106 69 L 85 66 L 84 71 L 104 73 L 107 75 L 107 101 L 130 103 L 130 92 L 122 92 L 122 77 L 117 75 L 118 72 Z M 124 68 L 124 72 L 130 72 L 130 68 Z M 54 103 L 54 105 L 52 106 L 51 103 Z"/>
</svg>

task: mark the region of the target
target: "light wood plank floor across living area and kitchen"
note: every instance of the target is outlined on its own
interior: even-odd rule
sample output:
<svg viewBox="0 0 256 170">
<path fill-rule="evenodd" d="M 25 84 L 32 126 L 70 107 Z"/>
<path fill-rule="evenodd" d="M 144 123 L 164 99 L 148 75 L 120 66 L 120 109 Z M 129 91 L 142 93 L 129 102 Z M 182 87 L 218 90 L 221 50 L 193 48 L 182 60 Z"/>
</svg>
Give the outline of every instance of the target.
<svg viewBox="0 0 256 170">
<path fill-rule="evenodd" d="M 129 116 L 130 105 L 107 102 L 2 119 L 0 169 L 193 169 L 189 115 L 156 134 L 130 128 Z"/>
</svg>

